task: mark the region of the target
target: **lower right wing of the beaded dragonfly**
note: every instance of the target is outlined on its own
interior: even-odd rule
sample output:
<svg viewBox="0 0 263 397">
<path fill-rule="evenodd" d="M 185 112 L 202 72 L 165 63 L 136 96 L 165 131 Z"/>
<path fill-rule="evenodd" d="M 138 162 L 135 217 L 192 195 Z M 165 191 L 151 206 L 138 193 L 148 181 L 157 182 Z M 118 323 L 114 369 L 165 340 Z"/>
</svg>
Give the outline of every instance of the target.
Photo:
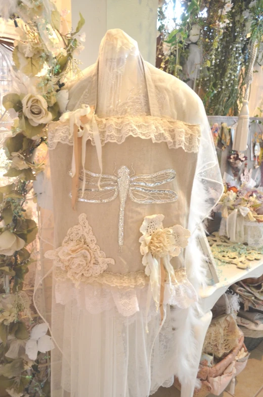
<svg viewBox="0 0 263 397">
<path fill-rule="evenodd" d="M 136 186 L 129 188 L 129 198 L 139 204 L 164 204 L 177 201 L 178 195 L 172 190 L 147 189 Z"/>
</svg>

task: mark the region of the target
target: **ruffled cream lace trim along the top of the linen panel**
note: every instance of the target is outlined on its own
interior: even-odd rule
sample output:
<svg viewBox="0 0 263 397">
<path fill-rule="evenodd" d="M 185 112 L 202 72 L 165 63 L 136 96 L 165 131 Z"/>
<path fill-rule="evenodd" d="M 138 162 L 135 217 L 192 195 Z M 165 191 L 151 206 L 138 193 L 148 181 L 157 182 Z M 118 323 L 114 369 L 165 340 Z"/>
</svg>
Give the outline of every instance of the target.
<svg viewBox="0 0 263 397">
<path fill-rule="evenodd" d="M 166 142 L 169 149 L 182 148 L 187 153 L 198 152 L 201 135 L 198 124 L 188 124 L 180 120 L 153 116 L 95 117 L 102 145 L 107 142 L 121 144 L 131 136 L 151 139 L 153 143 Z M 95 145 L 92 128 L 87 139 L 92 142 L 92 145 Z M 68 123 L 61 121 L 50 123 L 49 149 L 55 149 L 58 142 L 73 145 L 73 137 Z"/>
</svg>

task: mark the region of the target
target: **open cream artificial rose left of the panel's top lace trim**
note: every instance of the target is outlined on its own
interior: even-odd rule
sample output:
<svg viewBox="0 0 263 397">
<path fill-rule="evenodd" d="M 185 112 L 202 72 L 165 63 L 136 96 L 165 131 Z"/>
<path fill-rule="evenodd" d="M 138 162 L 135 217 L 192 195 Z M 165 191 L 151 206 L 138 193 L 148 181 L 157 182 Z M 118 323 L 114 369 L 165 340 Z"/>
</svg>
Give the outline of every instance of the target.
<svg viewBox="0 0 263 397">
<path fill-rule="evenodd" d="M 22 100 L 22 105 L 23 113 L 31 125 L 46 124 L 52 120 L 47 101 L 41 95 L 27 94 Z"/>
</svg>

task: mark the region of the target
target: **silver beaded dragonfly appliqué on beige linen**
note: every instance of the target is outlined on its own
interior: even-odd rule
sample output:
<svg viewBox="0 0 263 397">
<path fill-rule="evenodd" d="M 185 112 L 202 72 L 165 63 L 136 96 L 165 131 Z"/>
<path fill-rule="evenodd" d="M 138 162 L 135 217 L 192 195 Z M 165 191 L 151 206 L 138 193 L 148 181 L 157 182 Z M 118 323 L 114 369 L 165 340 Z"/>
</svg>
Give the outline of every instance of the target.
<svg viewBox="0 0 263 397">
<path fill-rule="evenodd" d="M 98 186 L 98 181 L 101 177 L 101 188 L 85 188 L 83 196 L 82 190 L 78 189 L 78 201 L 107 203 L 119 196 L 118 243 L 120 249 L 123 246 L 125 203 L 128 197 L 139 204 L 164 204 L 178 199 L 177 193 L 172 190 L 152 189 L 173 181 L 176 178 L 176 171 L 173 169 L 164 169 L 151 174 L 134 176 L 130 174 L 129 168 L 125 165 L 118 169 L 116 175 L 100 175 L 99 173 L 80 169 L 80 181 L 83 181 L 83 172 L 85 172 L 85 185 Z M 69 173 L 71 174 L 71 171 Z M 71 197 L 71 193 L 69 196 Z"/>
</svg>

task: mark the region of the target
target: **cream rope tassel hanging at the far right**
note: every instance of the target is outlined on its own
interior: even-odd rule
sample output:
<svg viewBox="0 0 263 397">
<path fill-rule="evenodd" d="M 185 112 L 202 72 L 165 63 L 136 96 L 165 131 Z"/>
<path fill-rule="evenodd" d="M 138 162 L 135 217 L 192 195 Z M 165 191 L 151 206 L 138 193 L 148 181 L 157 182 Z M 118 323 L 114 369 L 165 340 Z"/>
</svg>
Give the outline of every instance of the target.
<svg viewBox="0 0 263 397">
<path fill-rule="evenodd" d="M 247 75 L 245 77 L 246 91 L 244 94 L 244 101 L 238 116 L 238 124 L 234 135 L 233 150 L 238 152 L 245 151 L 247 148 L 247 138 L 249 131 L 249 109 L 248 109 L 248 97 L 249 97 L 249 87 L 253 80 L 253 67 L 256 59 L 257 53 L 257 41 L 252 42 L 251 54 L 249 60 L 249 66 Z"/>
</svg>

